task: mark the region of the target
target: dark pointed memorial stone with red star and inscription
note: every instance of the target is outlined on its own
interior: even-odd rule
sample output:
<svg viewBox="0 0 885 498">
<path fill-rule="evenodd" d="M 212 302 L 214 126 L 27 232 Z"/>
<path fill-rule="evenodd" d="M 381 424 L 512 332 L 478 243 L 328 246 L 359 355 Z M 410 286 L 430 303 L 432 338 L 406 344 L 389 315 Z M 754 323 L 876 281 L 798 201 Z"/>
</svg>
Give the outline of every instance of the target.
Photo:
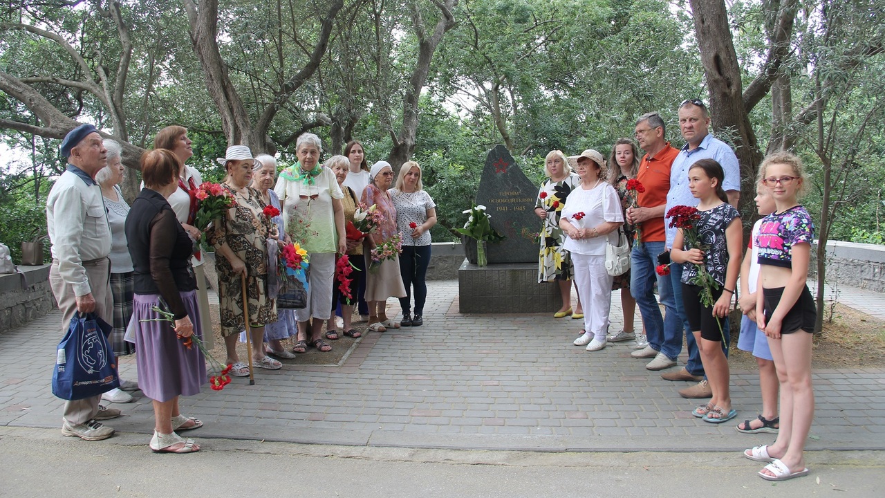
<svg viewBox="0 0 885 498">
<path fill-rule="evenodd" d="M 492 228 L 506 237 L 486 245 L 489 264 L 537 263 L 539 248 L 535 234 L 541 228 L 541 221 L 535 216 L 537 195 L 538 186 L 522 172 L 504 145 L 489 151 L 476 204 L 486 206 Z M 466 240 L 466 253 L 468 259 L 475 255 L 475 240 Z"/>
</svg>

